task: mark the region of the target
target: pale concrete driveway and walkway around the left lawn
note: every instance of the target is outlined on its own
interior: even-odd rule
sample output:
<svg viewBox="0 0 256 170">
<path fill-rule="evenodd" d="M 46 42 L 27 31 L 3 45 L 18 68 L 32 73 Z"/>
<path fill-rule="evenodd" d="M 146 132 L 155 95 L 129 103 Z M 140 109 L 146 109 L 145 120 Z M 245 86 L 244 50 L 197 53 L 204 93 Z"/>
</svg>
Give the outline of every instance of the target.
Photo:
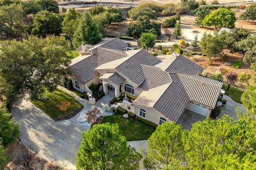
<svg viewBox="0 0 256 170">
<path fill-rule="evenodd" d="M 83 104 L 83 112 L 97 107 L 78 97 L 73 91 L 59 88 Z M 102 115 L 113 114 L 112 111 L 105 112 L 99 107 L 98 109 L 101 110 Z M 20 100 L 14 105 L 12 116 L 20 123 L 22 143 L 39 148 L 39 155 L 46 160 L 68 169 L 76 169 L 76 154 L 81 146 L 82 133 L 90 128 L 89 124 L 78 122 L 79 114 L 69 120 L 55 122 L 30 101 Z M 133 141 L 129 144 L 139 150 L 140 146 L 145 146 L 145 141 Z"/>
</svg>

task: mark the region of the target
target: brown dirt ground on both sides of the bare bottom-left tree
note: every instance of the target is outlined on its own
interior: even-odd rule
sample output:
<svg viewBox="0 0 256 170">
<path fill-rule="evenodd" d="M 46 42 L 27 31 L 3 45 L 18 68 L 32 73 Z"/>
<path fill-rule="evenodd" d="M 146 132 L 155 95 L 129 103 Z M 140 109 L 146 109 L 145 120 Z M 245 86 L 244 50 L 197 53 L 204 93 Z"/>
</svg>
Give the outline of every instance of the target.
<svg viewBox="0 0 256 170">
<path fill-rule="evenodd" d="M 27 148 L 24 145 L 21 145 L 18 142 L 15 142 L 13 145 L 9 147 L 7 150 L 7 155 L 9 156 L 9 163 L 6 165 L 5 169 L 15 169 L 15 170 L 23 170 L 25 169 L 22 167 L 18 162 L 18 155 L 22 152 L 26 152 Z M 38 158 L 37 162 L 34 165 L 35 169 L 42 169 L 42 170 L 59 170 L 65 168 L 61 167 L 60 165 L 53 163 L 53 162 L 47 162 L 47 160 Z"/>
</svg>

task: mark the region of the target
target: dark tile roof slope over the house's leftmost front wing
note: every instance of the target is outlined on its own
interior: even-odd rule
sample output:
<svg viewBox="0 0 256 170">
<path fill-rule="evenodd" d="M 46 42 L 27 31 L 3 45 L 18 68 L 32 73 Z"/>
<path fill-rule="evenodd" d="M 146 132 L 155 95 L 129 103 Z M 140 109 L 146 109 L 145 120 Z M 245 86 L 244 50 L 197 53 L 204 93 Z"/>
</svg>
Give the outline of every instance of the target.
<svg viewBox="0 0 256 170">
<path fill-rule="evenodd" d="M 69 66 L 68 72 L 70 71 L 71 75 L 73 75 L 79 83 L 85 84 L 99 75 L 99 72 L 94 70 L 97 66 L 97 56 L 91 55 Z"/>
</svg>

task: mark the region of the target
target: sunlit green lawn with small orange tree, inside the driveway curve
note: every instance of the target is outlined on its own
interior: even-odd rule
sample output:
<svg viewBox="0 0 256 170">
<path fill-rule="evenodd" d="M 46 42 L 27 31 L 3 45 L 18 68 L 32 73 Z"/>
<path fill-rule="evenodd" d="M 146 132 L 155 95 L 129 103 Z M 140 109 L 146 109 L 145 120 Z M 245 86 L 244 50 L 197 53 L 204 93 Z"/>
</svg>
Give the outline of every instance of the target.
<svg viewBox="0 0 256 170">
<path fill-rule="evenodd" d="M 49 100 L 44 100 L 43 97 L 49 97 Z M 60 89 L 57 89 L 52 93 L 45 92 L 43 97 L 39 100 L 31 100 L 31 102 L 39 109 L 41 109 L 44 113 L 49 115 L 52 119 L 68 114 L 75 111 L 76 109 L 83 107 L 83 105 L 80 104 L 75 98 Z M 61 111 L 61 109 L 59 108 L 61 101 L 69 101 L 71 103 L 66 112 Z"/>
</svg>

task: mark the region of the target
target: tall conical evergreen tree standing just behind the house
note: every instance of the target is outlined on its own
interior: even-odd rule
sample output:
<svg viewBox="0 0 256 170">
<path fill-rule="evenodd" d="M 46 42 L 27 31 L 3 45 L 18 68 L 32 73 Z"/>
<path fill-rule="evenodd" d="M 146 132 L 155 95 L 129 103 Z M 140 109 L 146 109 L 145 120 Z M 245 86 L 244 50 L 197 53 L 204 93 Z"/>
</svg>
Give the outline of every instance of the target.
<svg viewBox="0 0 256 170">
<path fill-rule="evenodd" d="M 102 32 L 99 26 L 92 20 L 92 16 L 88 12 L 84 12 L 77 25 L 74 34 L 74 46 L 86 44 L 97 44 L 102 40 Z"/>
</svg>

